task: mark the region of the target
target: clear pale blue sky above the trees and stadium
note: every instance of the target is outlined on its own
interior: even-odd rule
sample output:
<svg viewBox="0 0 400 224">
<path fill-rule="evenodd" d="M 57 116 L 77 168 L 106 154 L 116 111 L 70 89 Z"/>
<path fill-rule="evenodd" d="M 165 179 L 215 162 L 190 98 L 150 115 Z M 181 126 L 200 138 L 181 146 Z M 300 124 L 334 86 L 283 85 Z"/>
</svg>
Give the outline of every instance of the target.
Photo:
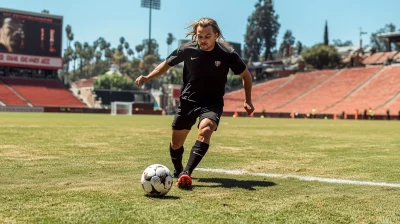
<svg viewBox="0 0 400 224">
<path fill-rule="evenodd" d="M 2 1 L 1 7 L 63 16 L 63 26 L 71 25 L 76 41 L 90 44 L 104 37 L 117 47 L 125 37 L 131 48 L 149 37 L 149 9 L 140 6 L 141 0 L 13 0 Z M 185 37 L 185 27 L 201 17 L 215 19 L 225 39 L 244 45 L 247 18 L 254 12 L 257 0 L 161 0 L 161 9 L 152 10 L 151 37 L 159 44 L 161 58 L 168 55 L 168 33 L 179 39 Z M 360 42 L 360 28 L 369 35 L 393 23 L 400 28 L 399 0 L 275 0 L 281 28 L 278 46 L 286 30 L 291 30 L 296 41 L 312 46 L 323 41 L 325 21 L 328 21 L 329 39 Z M 66 48 L 65 33 L 63 49 Z M 171 50 L 178 41 L 171 45 Z M 277 46 L 277 47 L 278 47 Z M 169 52 L 171 52 L 169 50 Z"/>
</svg>

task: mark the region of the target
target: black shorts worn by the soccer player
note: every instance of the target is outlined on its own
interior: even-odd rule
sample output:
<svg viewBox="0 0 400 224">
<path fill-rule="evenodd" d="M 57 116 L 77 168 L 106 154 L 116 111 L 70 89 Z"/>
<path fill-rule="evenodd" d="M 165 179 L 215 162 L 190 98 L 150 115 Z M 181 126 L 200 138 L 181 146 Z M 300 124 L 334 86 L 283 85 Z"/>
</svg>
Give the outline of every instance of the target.
<svg viewBox="0 0 400 224">
<path fill-rule="evenodd" d="M 223 106 L 205 105 L 205 106 L 193 106 L 193 105 L 180 105 L 178 111 L 175 114 L 174 121 L 172 122 L 172 129 L 174 130 L 190 130 L 196 123 L 197 118 L 200 122 L 204 118 L 208 118 L 215 123 L 217 126 L 222 115 Z"/>
</svg>

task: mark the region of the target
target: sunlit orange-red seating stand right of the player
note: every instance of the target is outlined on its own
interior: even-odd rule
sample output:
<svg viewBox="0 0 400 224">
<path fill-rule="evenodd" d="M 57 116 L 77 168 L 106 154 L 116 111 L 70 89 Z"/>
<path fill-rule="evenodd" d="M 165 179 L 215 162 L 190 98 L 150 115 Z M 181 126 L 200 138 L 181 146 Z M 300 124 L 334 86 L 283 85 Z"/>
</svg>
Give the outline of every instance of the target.
<svg viewBox="0 0 400 224">
<path fill-rule="evenodd" d="M 393 57 L 377 54 L 370 62 Z M 372 64 L 374 64 L 372 63 Z M 244 90 L 224 96 L 224 111 L 243 111 Z M 255 112 L 354 114 L 370 107 L 375 114 L 398 115 L 400 110 L 400 66 L 370 66 L 343 70 L 305 72 L 253 86 Z"/>
</svg>

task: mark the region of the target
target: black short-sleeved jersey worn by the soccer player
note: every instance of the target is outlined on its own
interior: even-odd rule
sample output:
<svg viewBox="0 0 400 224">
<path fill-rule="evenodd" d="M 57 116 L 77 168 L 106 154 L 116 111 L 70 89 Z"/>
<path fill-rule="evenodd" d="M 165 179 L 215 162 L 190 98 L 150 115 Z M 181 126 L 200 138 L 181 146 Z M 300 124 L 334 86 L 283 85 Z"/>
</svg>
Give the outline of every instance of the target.
<svg viewBox="0 0 400 224">
<path fill-rule="evenodd" d="M 229 69 L 241 74 L 246 65 L 231 47 L 216 42 L 212 51 L 203 51 L 196 41 L 182 44 L 166 59 L 169 66 L 184 62 L 181 102 L 221 104 Z"/>
</svg>

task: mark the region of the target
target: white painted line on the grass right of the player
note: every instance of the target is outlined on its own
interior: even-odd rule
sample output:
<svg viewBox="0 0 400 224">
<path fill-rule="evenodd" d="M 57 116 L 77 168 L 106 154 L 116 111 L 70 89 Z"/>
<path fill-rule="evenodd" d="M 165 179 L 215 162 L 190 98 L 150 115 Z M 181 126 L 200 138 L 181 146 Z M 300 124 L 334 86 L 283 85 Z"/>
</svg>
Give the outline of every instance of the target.
<svg viewBox="0 0 400 224">
<path fill-rule="evenodd" d="M 299 175 L 285 175 L 285 174 L 273 174 L 273 173 L 252 173 L 245 170 L 226 170 L 226 169 L 208 169 L 208 168 L 196 168 L 197 171 L 213 172 L 213 173 L 224 173 L 232 175 L 252 175 L 261 177 L 273 177 L 273 178 L 294 178 L 304 181 L 319 181 L 325 183 L 335 184 L 355 184 L 355 185 L 370 185 L 370 186 L 381 186 L 381 187 L 398 187 L 400 184 L 385 183 L 385 182 L 371 182 L 371 181 L 357 181 L 357 180 L 344 180 L 336 178 L 322 178 L 313 176 L 299 176 Z"/>
</svg>

